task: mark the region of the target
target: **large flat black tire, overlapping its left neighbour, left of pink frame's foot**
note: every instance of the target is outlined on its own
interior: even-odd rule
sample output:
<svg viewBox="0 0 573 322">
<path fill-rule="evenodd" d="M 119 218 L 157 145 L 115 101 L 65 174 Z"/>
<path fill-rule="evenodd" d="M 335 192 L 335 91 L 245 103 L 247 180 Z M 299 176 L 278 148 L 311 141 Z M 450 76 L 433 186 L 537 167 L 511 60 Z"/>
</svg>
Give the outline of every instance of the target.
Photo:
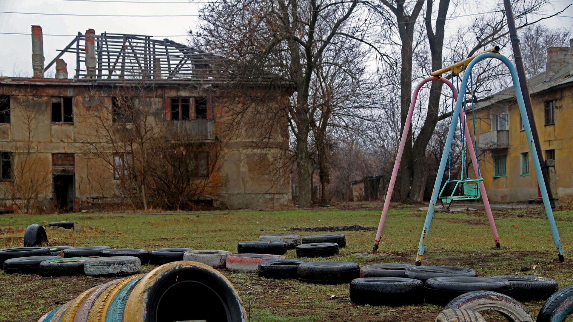
<svg viewBox="0 0 573 322">
<path fill-rule="evenodd" d="M 344 284 L 360 275 L 360 266 L 353 262 L 324 261 L 299 265 L 297 278 L 315 284 Z"/>
</svg>

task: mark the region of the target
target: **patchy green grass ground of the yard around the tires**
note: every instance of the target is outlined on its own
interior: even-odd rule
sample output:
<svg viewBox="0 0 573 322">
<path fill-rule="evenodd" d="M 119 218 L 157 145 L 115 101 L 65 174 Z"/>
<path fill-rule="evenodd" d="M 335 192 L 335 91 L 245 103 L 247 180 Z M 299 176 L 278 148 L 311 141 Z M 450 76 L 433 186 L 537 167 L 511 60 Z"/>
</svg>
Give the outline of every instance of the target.
<svg viewBox="0 0 573 322">
<path fill-rule="evenodd" d="M 380 262 L 415 260 L 425 213 L 415 207 L 397 207 L 388 213 L 379 250 L 394 256 L 362 257 L 371 251 L 375 231 L 346 231 L 347 247 L 338 256 L 315 260 Z M 30 223 L 73 220 L 80 231 L 48 230 L 50 245 L 114 248 L 190 247 L 236 251 L 238 241 L 257 240 L 266 233 L 291 233 L 291 227 L 377 226 L 380 210 L 330 209 L 286 211 L 214 211 L 185 214 L 1 215 L 0 227 L 25 229 Z M 475 269 L 478 276 L 523 274 L 521 265 L 537 265 L 528 273 L 554 278 L 561 286 L 573 284 L 570 261 L 558 262 L 543 210 L 512 210 L 494 214 L 501 237 L 501 250 L 492 249 L 493 239 L 482 211 L 437 213 L 429 231 L 425 265 L 460 265 Z M 558 211 L 559 232 L 566 258 L 573 247 L 573 213 Z M 301 235 L 316 233 L 300 232 Z M 3 245 L 7 247 L 11 245 Z M 286 257 L 294 258 L 289 250 Z M 154 266 L 145 265 L 149 271 Z M 406 307 L 358 306 L 347 298 L 348 284 L 313 285 L 296 280 L 268 280 L 256 274 L 221 270 L 233 282 L 253 321 L 430 321 L 440 308 L 434 305 Z M 73 299 L 93 284 L 111 278 L 7 275 L 0 273 L 0 321 L 36 321 L 38 317 Z M 289 303 L 289 304 L 277 304 Z M 542 302 L 525 303 L 535 316 Z"/>
</svg>

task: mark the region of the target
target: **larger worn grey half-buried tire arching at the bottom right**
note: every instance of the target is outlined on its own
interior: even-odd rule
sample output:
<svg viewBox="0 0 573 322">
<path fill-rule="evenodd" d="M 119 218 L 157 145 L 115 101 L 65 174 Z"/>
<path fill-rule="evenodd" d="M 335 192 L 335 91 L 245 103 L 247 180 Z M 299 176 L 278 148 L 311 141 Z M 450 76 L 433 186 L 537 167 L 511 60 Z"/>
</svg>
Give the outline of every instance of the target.
<svg viewBox="0 0 573 322">
<path fill-rule="evenodd" d="M 531 313 L 518 301 L 505 294 L 490 290 L 477 290 L 456 297 L 445 307 L 469 309 L 477 312 L 497 311 L 509 322 L 533 322 Z"/>
</svg>

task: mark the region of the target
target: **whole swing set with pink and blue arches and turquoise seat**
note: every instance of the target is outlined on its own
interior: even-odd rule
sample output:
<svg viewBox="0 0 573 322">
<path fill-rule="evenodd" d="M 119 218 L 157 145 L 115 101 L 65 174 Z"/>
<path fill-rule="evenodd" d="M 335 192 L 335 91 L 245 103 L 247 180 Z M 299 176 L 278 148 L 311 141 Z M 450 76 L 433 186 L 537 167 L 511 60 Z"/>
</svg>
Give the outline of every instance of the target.
<svg viewBox="0 0 573 322">
<path fill-rule="evenodd" d="M 436 202 L 438 198 L 444 203 L 448 203 L 448 207 L 454 201 L 466 201 L 466 200 L 477 200 L 482 199 L 484 202 L 485 212 L 488 217 L 490 229 L 492 230 L 493 240 L 496 244 L 496 248 L 500 248 L 500 239 L 499 234 L 497 234 L 496 225 L 493 219 L 493 214 L 491 207 L 489 205 L 488 195 L 485 191 L 484 186 L 484 179 L 481 177 L 480 166 L 477 161 L 477 144 L 475 141 L 476 138 L 476 121 L 475 121 L 475 113 L 474 113 L 474 95 L 473 95 L 473 79 L 472 79 L 472 68 L 477 62 L 484 60 L 485 58 L 495 58 L 497 60 L 502 61 L 505 65 L 508 66 L 509 72 L 511 73 L 511 78 L 513 81 L 513 87 L 515 88 L 515 94 L 517 99 L 517 104 L 519 105 L 519 111 L 521 115 L 521 119 L 523 119 L 523 127 L 525 128 L 525 135 L 527 136 L 527 140 L 529 142 L 529 150 L 531 152 L 532 160 L 533 160 L 533 167 L 535 168 L 535 174 L 537 177 L 537 183 L 539 184 L 539 190 L 541 191 L 541 197 L 543 198 L 543 205 L 545 207 L 545 213 L 547 214 L 547 220 L 550 225 L 551 233 L 553 235 L 555 248 L 558 251 L 559 261 L 564 261 L 564 251 L 563 245 L 559 238 L 559 232 L 557 230 L 557 226 L 555 225 L 555 218 L 553 216 L 553 211 L 551 209 L 550 201 L 547 194 L 547 187 L 545 187 L 545 182 L 543 180 L 543 174 L 541 173 L 541 166 L 539 163 L 539 158 L 535 153 L 535 142 L 533 142 L 533 136 L 531 133 L 531 125 L 529 124 L 529 119 L 527 116 L 527 111 L 525 110 L 525 104 L 523 100 L 523 94 L 521 93 L 521 88 L 519 87 L 519 79 L 517 78 L 517 72 L 515 70 L 515 66 L 513 66 L 512 62 L 502 54 L 499 54 L 499 47 L 495 46 L 485 52 L 481 52 L 476 54 L 475 56 L 466 58 L 456 64 L 448 66 L 446 68 L 442 68 L 436 70 L 435 72 L 431 73 L 430 77 L 425 78 L 422 80 L 415 88 L 412 94 L 412 100 L 410 103 L 410 108 L 406 117 L 406 123 L 404 125 L 404 129 L 402 132 L 402 138 L 400 140 L 400 144 L 398 147 L 398 154 L 396 156 L 396 160 L 394 162 L 394 168 L 392 171 L 392 176 L 390 178 L 390 184 L 388 185 L 388 191 L 386 193 L 386 199 L 384 200 L 384 207 L 382 209 L 382 215 L 380 216 L 380 223 L 378 225 L 378 231 L 376 231 L 376 238 L 374 240 L 374 248 L 372 249 L 372 253 L 375 253 L 378 250 L 380 245 L 380 239 L 382 238 L 382 230 L 384 228 L 384 223 L 386 222 L 386 215 L 388 214 L 388 207 L 390 206 L 390 199 L 392 197 L 394 186 L 396 183 L 396 178 L 398 176 L 398 168 L 400 166 L 400 162 L 402 160 L 402 154 L 404 151 L 404 147 L 406 146 L 406 138 L 410 129 L 412 115 L 414 112 L 414 107 L 416 100 L 418 98 L 418 93 L 422 86 L 430 81 L 441 81 L 442 83 L 448 85 L 448 87 L 453 92 L 453 101 L 452 103 L 452 116 L 450 120 L 450 127 L 448 129 L 448 137 L 446 139 L 446 144 L 444 150 L 442 151 L 442 157 L 438 167 L 438 174 L 435 178 L 434 189 L 432 191 L 430 205 L 428 207 L 426 213 L 426 219 L 424 222 L 424 226 L 422 229 L 422 234 L 420 237 L 420 241 L 418 244 L 418 254 L 416 257 L 415 265 L 422 264 L 422 258 L 426 246 L 427 236 L 429 234 L 430 226 L 431 226 L 431 219 L 433 218 Z M 441 77 L 442 74 L 446 72 L 452 72 L 456 77 L 458 74 L 462 72 L 462 69 L 465 67 L 465 72 L 462 77 L 461 88 L 464 95 L 462 95 L 462 99 L 458 99 L 458 92 L 456 88 L 453 87 L 450 81 L 446 80 L 444 77 Z M 474 140 L 469 135 L 469 128 L 466 122 L 466 111 L 465 111 L 465 104 L 464 108 L 462 108 L 462 104 L 464 103 L 464 96 L 465 96 L 465 89 L 468 87 L 468 81 L 470 83 L 470 89 L 472 94 L 472 116 L 473 116 L 473 133 L 474 133 Z M 452 169 L 452 159 L 451 159 L 451 149 L 452 149 L 452 141 L 454 138 L 454 133 L 457 131 L 458 123 L 460 125 L 460 137 L 461 137 L 461 151 L 462 151 L 462 158 L 461 158 L 461 175 L 460 179 L 452 179 L 451 178 L 451 169 Z M 477 179 L 471 179 L 468 177 L 468 170 L 465 167 L 465 150 L 468 150 L 470 155 L 470 159 L 472 160 L 474 175 Z M 444 186 L 442 185 L 442 179 L 444 178 L 444 172 L 446 168 L 446 163 L 449 163 L 449 170 L 448 170 L 448 179 L 445 181 Z M 453 186 L 451 193 L 446 193 L 446 186 Z M 457 191 L 461 190 L 460 195 L 456 195 Z"/>
</svg>

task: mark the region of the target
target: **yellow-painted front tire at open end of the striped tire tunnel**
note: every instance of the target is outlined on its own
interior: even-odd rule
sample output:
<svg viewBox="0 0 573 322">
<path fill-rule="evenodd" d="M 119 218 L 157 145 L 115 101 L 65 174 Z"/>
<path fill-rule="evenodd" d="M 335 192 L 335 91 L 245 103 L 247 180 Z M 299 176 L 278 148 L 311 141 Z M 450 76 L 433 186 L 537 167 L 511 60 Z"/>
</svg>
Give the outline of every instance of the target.
<svg viewBox="0 0 573 322">
<path fill-rule="evenodd" d="M 125 304 L 124 322 L 158 320 L 247 319 L 241 298 L 223 274 L 202 263 L 176 261 L 147 273 Z"/>
</svg>

